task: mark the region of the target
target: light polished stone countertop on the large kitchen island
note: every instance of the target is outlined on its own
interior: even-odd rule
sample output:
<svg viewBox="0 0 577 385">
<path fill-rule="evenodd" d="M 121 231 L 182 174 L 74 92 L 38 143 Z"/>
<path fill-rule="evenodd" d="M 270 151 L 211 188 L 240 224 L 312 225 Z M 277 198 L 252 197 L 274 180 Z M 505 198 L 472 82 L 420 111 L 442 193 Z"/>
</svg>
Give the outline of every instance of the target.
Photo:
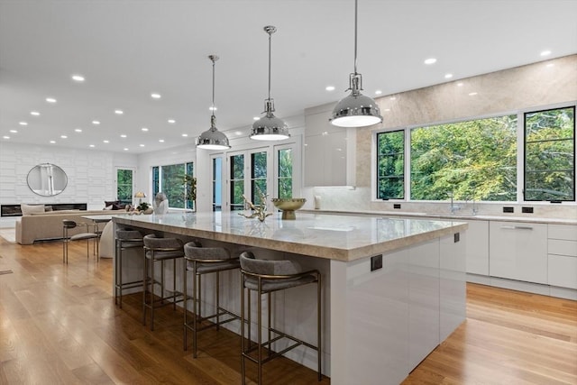
<svg viewBox="0 0 577 385">
<path fill-rule="evenodd" d="M 280 252 L 354 261 L 466 230 L 463 222 L 425 218 L 381 218 L 297 212 L 282 220 L 275 213 L 264 222 L 238 212 L 113 215 L 113 221 L 172 234 L 236 243 Z"/>
</svg>

